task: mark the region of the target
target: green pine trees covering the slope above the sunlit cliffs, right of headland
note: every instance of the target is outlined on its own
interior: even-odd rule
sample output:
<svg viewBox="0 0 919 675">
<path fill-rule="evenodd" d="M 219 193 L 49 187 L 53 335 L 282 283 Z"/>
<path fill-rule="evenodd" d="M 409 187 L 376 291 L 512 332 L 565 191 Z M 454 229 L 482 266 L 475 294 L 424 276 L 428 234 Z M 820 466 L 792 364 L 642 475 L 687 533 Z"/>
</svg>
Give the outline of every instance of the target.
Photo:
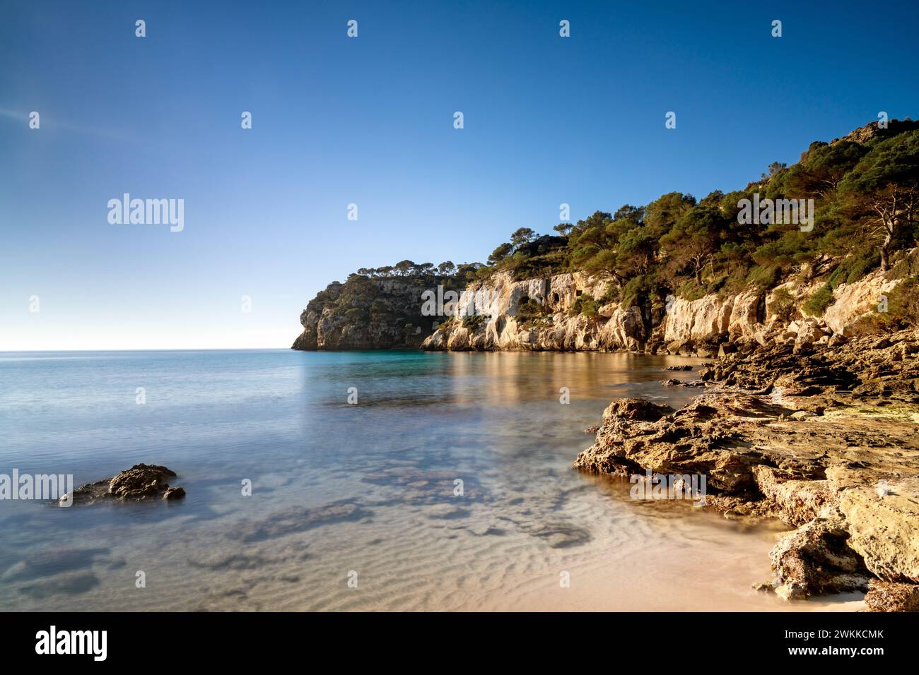
<svg viewBox="0 0 919 675">
<path fill-rule="evenodd" d="M 744 224 L 738 218 L 744 199 L 796 205 L 812 199 L 812 229 L 802 231 L 800 221 L 789 219 Z M 618 290 L 607 295 L 642 309 L 670 293 L 696 299 L 744 287 L 766 290 L 793 276 L 827 278 L 804 307 L 820 314 L 835 287 L 889 269 L 892 255 L 916 245 L 919 123 L 891 120 L 888 129 L 872 123 L 832 144 L 815 141 L 798 163 L 772 163 L 743 190 L 716 190 L 700 200 L 671 192 L 643 207 L 596 211 L 554 231 L 557 236 L 516 230 L 476 275 L 608 275 Z M 587 313 L 585 302 L 573 313 Z"/>
</svg>

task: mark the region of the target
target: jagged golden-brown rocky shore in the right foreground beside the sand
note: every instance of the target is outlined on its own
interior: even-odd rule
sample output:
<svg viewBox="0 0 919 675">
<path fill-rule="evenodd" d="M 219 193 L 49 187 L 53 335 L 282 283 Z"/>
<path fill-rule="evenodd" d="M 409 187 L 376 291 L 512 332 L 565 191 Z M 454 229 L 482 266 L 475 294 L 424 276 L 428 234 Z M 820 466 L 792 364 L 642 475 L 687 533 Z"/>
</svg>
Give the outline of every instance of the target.
<svg viewBox="0 0 919 675">
<path fill-rule="evenodd" d="M 710 508 L 794 528 L 761 591 L 868 591 L 872 611 L 919 611 L 919 331 L 730 352 L 678 411 L 614 401 L 573 467 L 706 475 Z"/>
</svg>

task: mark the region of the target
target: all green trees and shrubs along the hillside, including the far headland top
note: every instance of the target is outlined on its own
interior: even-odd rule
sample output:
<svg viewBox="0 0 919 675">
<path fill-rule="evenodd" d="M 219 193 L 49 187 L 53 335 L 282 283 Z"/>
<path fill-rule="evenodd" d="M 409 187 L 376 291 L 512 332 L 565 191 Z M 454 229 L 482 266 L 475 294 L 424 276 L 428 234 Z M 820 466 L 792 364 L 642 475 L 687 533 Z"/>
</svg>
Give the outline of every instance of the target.
<svg viewBox="0 0 919 675">
<path fill-rule="evenodd" d="M 802 206 L 812 200 L 808 226 L 802 229 L 800 221 L 787 218 L 739 217 L 764 200 L 786 206 L 789 200 Z M 333 317 L 360 325 L 411 323 L 426 332 L 432 321 L 419 315 L 421 303 L 414 302 L 406 286 L 418 292 L 437 286 L 461 290 L 498 272 L 516 279 L 585 272 L 607 276 L 611 284 L 603 298 L 577 298 L 573 316 L 596 317 L 598 307 L 617 300 L 651 317 L 652 309 L 662 307 L 671 294 L 696 299 L 746 287 L 767 290 L 789 278 L 824 281 L 802 308 L 820 315 L 832 303 L 835 287 L 880 269 L 908 281 L 891 296 L 889 315 L 877 321 L 915 322 L 912 298 L 919 263 L 913 256 L 905 267 L 901 262 L 891 269 L 891 264 L 919 239 L 919 123 L 891 120 L 889 128 L 879 129 L 874 122 L 832 143 L 815 141 L 798 163 L 771 163 L 759 180 L 728 194 L 716 190 L 697 199 L 670 192 L 645 206 L 596 211 L 553 230 L 540 235 L 518 228 L 487 264 L 403 260 L 362 268 L 344 284 L 319 293 L 307 311 L 325 308 Z M 386 290 L 391 285 L 380 283 L 391 279 L 403 286 L 392 295 Z M 412 301 L 400 304 L 397 296 Z M 780 315 L 790 317 L 795 310 L 788 294 L 779 294 L 773 305 Z M 529 300 L 521 304 L 518 317 L 540 321 L 546 311 Z M 465 317 L 462 323 L 471 328 L 482 321 Z"/>
</svg>

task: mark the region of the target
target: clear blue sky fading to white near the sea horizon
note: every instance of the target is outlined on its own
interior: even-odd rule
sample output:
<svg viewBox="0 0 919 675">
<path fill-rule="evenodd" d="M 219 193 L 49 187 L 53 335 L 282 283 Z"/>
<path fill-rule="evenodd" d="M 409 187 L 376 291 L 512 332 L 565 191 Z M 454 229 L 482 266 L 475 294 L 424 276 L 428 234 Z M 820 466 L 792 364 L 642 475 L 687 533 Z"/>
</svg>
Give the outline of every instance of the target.
<svg viewBox="0 0 919 675">
<path fill-rule="evenodd" d="M 359 267 L 743 187 L 919 117 L 917 7 L 0 0 L 0 350 L 289 347 Z"/>
</svg>

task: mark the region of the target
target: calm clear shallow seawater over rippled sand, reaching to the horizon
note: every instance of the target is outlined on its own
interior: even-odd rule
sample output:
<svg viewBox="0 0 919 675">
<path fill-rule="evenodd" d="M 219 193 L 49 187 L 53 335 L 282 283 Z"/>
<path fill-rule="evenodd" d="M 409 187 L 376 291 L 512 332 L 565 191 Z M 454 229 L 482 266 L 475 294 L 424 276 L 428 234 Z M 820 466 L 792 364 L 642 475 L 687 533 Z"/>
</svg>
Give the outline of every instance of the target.
<svg viewBox="0 0 919 675">
<path fill-rule="evenodd" d="M 744 528 L 686 502 L 632 501 L 628 483 L 570 468 L 611 399 L 681 405 L 698 393 L 659 384 L 694 377 L 662 372 L 675 363 L 698 362 L 0 354 L 0 473 L 71 473 L 82 484 L 145 462 L 173 468 L 172 484 L 187 490 L 168 504 L 0 501 L 0 607 L 858 608 L 857 596 L 789 606 L 753 591 L 769 579 L 775 528 Z"/>
</svg>

